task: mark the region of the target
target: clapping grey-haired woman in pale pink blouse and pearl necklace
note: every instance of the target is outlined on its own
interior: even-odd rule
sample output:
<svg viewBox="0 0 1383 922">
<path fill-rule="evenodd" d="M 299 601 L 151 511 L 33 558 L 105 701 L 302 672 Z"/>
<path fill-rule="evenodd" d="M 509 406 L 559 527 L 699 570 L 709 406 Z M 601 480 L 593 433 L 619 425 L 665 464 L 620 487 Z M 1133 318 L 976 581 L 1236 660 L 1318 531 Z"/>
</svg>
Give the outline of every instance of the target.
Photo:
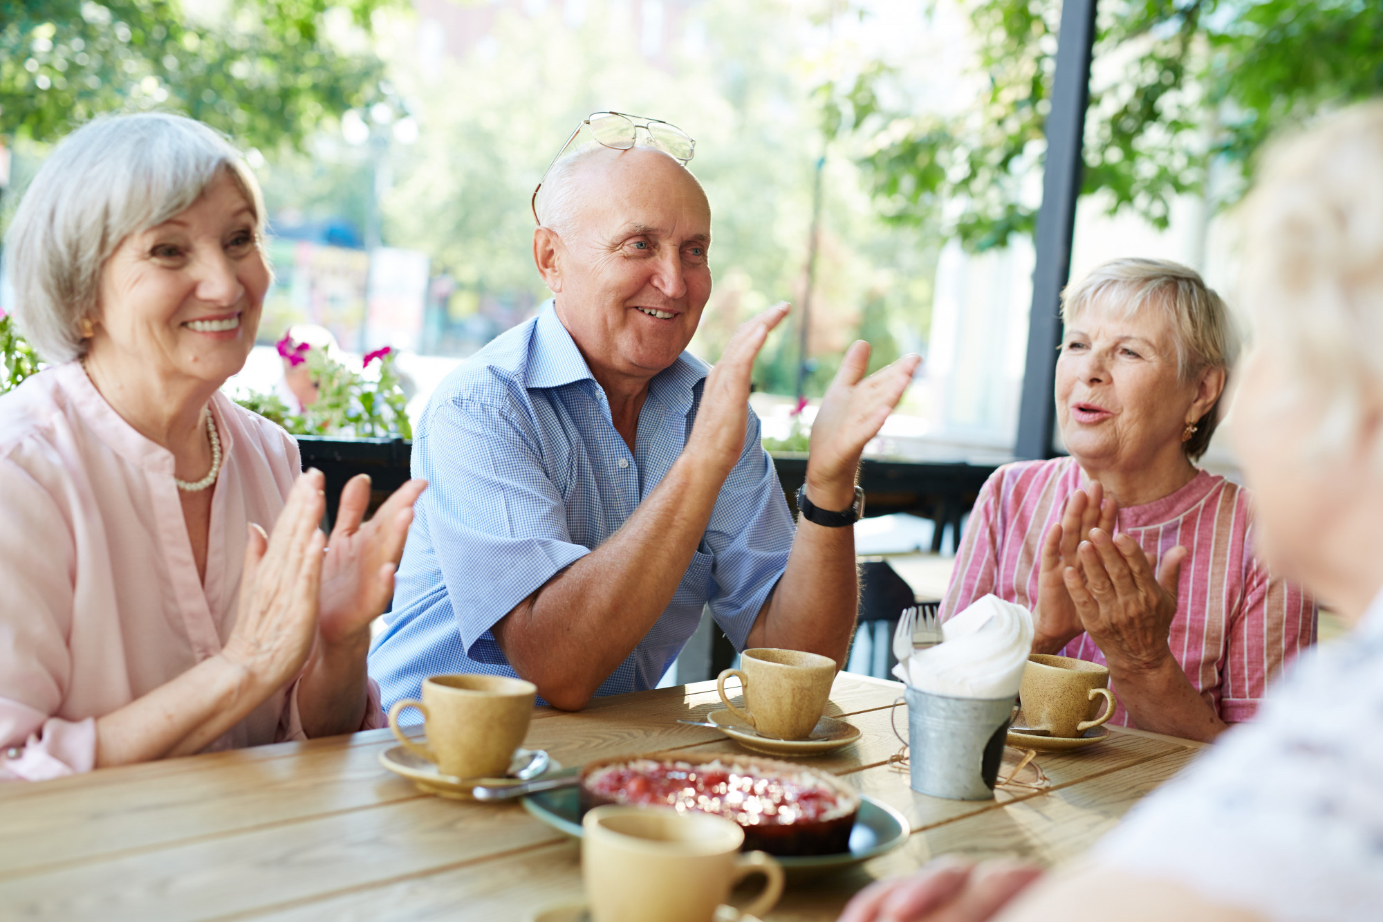
<svg viewBox="0 0 1383 922">
<path fill-rule="evenodd" d="M 423 485 L 362 525 L 357 478 L 328 543 L 321 473 L 220 393 L 263 228 L 235 150 L 160 114 L 72 133 L 15 213 L 15 318 L 57 364 L 0 397 L 0 779 L 382 723 L 369 622 Z"/>
</svg>

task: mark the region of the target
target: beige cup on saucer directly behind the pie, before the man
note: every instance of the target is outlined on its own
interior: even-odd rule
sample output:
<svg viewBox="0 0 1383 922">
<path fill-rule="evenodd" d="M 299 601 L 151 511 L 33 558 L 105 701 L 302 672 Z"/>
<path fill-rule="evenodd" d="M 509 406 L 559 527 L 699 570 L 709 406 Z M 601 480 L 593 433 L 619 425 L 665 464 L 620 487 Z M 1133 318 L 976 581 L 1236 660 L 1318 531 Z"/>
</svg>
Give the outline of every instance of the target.
<svg viewBox="0 0 1383 922">
<path fill-rule="evenodd" d="M 744 707 L 730 703 L 725 680 L 740 677 Z M 806 739 L 822 718 L 835 681 L 835 660 L 798 649 L 747 649 L 739 669 L 726 669 L 716 691 L 730 713 L 765 736 Z"/>
</svg>

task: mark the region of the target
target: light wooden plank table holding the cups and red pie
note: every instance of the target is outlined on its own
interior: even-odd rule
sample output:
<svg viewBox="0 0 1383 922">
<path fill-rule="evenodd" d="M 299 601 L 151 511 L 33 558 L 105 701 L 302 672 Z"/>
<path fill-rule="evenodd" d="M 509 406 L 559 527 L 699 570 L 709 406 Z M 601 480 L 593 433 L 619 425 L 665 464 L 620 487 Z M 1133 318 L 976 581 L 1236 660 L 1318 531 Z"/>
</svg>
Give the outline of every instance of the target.
<svg viewBox="0 0 1383 922">
<path fill-rule="evenodd" d="M 1088 847 L 1199 749 L 1116 731 L 1075 754 L 1040 756 L 1052 788 L 993 802 L 913 793 L 888 757 L 896 683 L 842 673 L 828 714 L 863 731 L 810 760 L 900 810 L 906 846 L 795 885 L 768 919 L 834 919 L 870 879 L 947 851 L 1051 864 Z M 526 745 L 566 766 L 656 749 L 743 752 L 674 723 L 719 707 L 714 683 L 539 709 Z M 906 712 L 898 709 L 906 734 Z M 419 793 L 384 771 L 389 731 L 173 759 L 36 785 L 0 786 L 6 919 L 524 919 L 579 897 L 578 847 L 519 804 Z"/>
</svg>

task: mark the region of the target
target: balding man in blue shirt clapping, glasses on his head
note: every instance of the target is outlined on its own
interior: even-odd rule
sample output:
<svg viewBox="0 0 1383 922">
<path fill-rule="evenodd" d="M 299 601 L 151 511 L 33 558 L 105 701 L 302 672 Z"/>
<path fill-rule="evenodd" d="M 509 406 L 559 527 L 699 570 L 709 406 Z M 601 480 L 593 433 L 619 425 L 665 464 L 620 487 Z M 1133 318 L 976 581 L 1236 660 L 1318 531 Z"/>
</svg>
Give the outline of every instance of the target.
<svg viewBox="0 0 1383 922">
<path fill-rule="evenodd" d="M 740 327 L 714 368 L 685 352 L 711 295 L 711 208 L 690 138 L 633 122 L 647 137 L 629 123 L 628 150 L 592 116 L 600 144 L 559 152 L 534 199 L 553 299 L 449 375 L 419 422 L 414 476 L 431 487 L 369 658 L 386 703 L 462 671 L 527 678 L 566 710 L 653 688 L 705 604 L 739 649 L 844 662 L 859 457 L 920 359 L 864 378 L 869 345 L 846 352 L 794 527 L 748 406 L 787 307 Z"/>
</svg>

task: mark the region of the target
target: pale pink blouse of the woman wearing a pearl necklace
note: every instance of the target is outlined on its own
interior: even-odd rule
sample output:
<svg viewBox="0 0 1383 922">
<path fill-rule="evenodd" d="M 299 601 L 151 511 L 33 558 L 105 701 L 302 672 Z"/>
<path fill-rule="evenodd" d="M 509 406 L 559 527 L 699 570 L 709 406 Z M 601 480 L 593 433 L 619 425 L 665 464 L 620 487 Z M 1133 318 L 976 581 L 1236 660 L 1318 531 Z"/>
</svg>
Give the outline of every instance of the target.
<svg viewBox="0 0 1383 922">
<path fill-rule="evenodd" d="M 173 454 L 68 363 L 0 397 L 0 781 L 95 764 L 95 718 L 216 655 L 235 624 L 250 522 L 272 529 L 300 471 L 277 425 L 212 399 L 223 467 L 198 577 Z M 382 727 L 369 684 L 362 730 Z M 304 739 L 297 681 L 207 750 Z"/>
</svg>

